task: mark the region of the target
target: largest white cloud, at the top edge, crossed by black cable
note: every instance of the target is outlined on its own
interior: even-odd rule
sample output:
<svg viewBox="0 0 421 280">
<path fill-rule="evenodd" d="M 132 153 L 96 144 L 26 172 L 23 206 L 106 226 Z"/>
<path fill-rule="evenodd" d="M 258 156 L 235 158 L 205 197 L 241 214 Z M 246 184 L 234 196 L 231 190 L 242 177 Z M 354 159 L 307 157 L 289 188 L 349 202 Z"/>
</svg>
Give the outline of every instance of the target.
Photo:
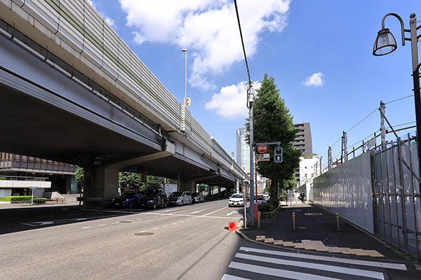
<svg viewBox="0 0 421 280">
<path fill-rule="evenodd" d="M 134 40 L 173 43 L 189 50 L 193 86 L 209 89 L 208 74 L 220 75 L 243 59 L 234 3 L 231 0 L 119 0 Z M 253 57 L 263 31 L 286 26 L 290 0 L 242 0 L 238 3 L 248 57 Z M 165 7 L 165 8 L 163 8 Z"/>
</svg>

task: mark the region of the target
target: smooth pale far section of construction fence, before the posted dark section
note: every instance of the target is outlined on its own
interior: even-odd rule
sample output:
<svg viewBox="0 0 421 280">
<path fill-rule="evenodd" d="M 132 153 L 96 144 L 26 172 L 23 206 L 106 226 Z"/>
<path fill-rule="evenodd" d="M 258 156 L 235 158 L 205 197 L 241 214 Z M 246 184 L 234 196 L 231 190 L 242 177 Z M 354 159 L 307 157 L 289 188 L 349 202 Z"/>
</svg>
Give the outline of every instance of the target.
<svg viewBox="0 0 421 280">
<path fill-rule="evenodd" d="M 315 204 L 374 233 L 370 153 L 363 153 L 313 181 Z"/>
</svg>

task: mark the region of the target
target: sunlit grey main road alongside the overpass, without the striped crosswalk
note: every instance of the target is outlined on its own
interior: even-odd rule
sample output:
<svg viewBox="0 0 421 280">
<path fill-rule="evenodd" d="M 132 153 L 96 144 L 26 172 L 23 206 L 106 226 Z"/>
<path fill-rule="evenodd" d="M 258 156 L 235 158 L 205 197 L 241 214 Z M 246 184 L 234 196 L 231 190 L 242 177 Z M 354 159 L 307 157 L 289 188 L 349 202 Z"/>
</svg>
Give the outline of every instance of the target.
<svg viewBox="0 0 421 280">
<path fill-rule="evenodd" d="M 1 209 L 0 279 L 221 279 L 242 208 Z"/>
</svg>

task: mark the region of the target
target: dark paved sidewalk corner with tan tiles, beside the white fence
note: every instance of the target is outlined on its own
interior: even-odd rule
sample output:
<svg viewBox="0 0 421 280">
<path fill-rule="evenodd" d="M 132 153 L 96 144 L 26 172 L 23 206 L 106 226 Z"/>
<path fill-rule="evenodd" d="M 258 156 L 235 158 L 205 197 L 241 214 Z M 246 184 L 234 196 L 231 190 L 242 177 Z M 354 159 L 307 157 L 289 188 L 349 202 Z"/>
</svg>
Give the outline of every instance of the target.
<svg viewBox="0 0 421 280">
<path fill-rule="evenodd" d="M 295 212 L 293 230 L 292 214 Z M 405 261 L 402 254 L 372 236 L 340 220 L 340 233 L 334 215 L 310 204 L 283 204 L 276 218 L 262 218 L 260 230 L 241 230 L 249 239 L 302 251 L 319 251 L 334 255 Z"/>
</svg>

